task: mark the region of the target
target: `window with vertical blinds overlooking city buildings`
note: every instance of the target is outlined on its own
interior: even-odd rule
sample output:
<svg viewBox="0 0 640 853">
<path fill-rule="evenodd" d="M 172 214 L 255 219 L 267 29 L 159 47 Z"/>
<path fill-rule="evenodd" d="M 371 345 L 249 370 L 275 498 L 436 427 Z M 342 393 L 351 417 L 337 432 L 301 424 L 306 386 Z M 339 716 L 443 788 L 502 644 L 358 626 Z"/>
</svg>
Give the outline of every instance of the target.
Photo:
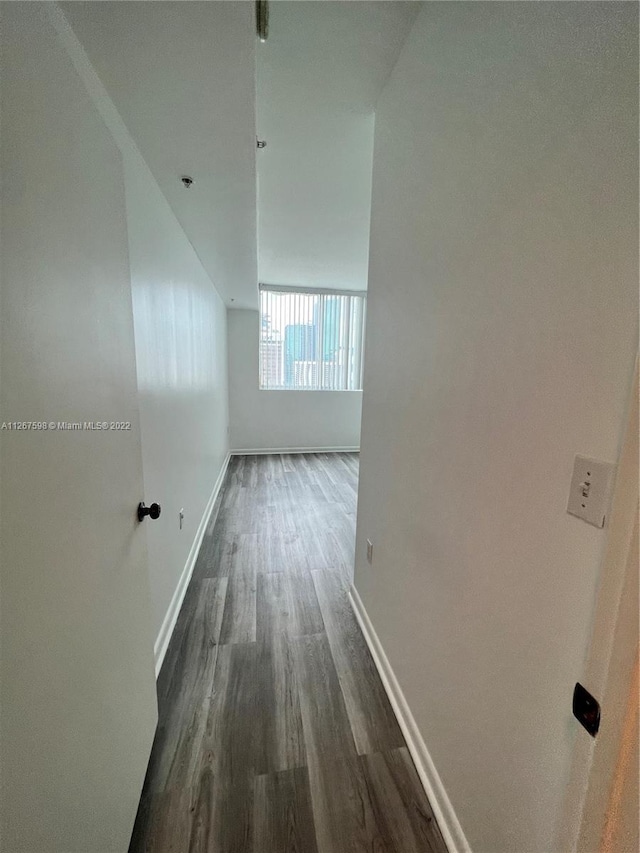
<svg viewBox="0 0 640 853">
<path fill-rule="evenodd" d="M 260 286 L 260 387 L 362 388 L 365 295 Z"/>
</svg>

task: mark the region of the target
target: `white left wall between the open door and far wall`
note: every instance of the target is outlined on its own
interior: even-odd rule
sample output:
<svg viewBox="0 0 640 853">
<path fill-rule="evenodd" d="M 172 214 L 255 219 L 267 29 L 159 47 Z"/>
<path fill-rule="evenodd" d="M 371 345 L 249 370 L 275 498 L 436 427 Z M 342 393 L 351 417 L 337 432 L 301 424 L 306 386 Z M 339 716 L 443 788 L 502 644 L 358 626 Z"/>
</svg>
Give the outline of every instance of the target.
<svg viewBox="0 0 640 853">
<path fill-rule="evenodd" d="M 124 161 L 144 499 L 162 507 L 146 524 L 158 637 L 227 454 L 226 309 L 59 10 L 56 20 Z"/>
</svg>

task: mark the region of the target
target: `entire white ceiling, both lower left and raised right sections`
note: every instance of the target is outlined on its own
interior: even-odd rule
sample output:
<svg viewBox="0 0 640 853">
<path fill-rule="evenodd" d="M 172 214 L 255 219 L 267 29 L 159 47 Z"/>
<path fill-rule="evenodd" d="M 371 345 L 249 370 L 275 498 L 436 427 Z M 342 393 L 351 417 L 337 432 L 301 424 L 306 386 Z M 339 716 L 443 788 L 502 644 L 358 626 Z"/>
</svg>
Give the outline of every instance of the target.
<svg viewBox="0 0 640 853">
<path fill-rule="evenodd" d="M 249 0 L 61 5 L 228 305 L 366 288 L 373 108 L 419 3 L 278 0 L 264 44 Z"/>
</svg>

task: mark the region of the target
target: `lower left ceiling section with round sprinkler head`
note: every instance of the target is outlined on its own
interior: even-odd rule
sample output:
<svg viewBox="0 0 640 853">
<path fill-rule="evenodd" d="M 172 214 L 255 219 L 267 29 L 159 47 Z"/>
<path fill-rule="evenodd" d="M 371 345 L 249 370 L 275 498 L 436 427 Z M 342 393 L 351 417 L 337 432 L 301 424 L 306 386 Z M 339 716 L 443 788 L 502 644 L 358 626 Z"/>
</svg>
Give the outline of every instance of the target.
<svg viewBox="0 0 640 853">
<path fill-rule="evenodd" d="M 257 304 L 253 3 L 61 5 L 218 292 Z"/>
</svg>

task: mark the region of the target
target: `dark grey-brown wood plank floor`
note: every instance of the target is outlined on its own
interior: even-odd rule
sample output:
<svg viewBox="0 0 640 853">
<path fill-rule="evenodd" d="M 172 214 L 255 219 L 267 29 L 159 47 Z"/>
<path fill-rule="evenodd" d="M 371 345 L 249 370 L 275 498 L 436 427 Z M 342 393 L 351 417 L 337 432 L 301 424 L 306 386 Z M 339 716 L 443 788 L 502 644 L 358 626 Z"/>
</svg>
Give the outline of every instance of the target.
<svg viewBox="0 0 640 853">
<path fill-rule="evenodd" d="M 130 853 L 446 853 L 347 599 L 357 482 L 356 454 L 231 459 Z"/>
</svg>

